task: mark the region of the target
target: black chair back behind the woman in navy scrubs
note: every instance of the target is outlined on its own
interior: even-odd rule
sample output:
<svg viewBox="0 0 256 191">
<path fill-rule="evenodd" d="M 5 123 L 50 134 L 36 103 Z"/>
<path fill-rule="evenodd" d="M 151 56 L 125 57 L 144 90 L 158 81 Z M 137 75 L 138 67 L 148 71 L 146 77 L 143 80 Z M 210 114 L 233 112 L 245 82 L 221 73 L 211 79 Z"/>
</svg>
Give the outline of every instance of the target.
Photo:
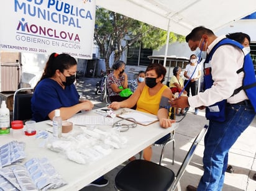
<svg viewBox="0 0 256 191">
<path fill-rule="evenodd" d="M 13 120 L 30 120 L 32 118 L 31 98 L 33 87 L 17 89 L 14 93 Z"/>
</svg>

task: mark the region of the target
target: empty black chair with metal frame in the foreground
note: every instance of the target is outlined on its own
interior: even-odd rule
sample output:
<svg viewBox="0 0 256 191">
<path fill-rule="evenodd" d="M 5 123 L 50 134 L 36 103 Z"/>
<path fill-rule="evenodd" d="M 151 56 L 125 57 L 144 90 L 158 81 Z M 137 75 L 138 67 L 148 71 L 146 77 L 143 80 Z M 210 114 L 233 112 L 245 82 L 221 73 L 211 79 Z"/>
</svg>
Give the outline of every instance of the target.
<svg viewBox="0 0 256 191">
<path fill-rule="evenodd" d="M 196 146 L 202 140 L 208 125 L 196 136 L 190 150 L 186 154 L 180 169 L 176 176 L 175 173 L 167 167 L 161 166 L 154 162 L 145 160 L 135 160 L 129 162 L 116 175 L 115 187 L 117 190 L 127 191 L 166 191 L 175 190 L 181 176 L 185 172 L 186 166 L 191 161 Z"/>
</svg>

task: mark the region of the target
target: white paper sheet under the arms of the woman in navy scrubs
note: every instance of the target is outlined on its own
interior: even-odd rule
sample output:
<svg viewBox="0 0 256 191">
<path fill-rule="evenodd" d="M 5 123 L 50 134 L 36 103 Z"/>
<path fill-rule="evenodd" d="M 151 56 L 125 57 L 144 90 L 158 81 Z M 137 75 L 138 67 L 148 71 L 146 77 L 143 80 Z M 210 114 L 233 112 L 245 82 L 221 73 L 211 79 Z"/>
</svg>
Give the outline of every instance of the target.
<svg viewBox="0 0 256 191">
<path fill-rule="evenodd" d="M 74 125 L 104 125 L 103 115 L 75 115 L 68 119 Z"/>
</svg>

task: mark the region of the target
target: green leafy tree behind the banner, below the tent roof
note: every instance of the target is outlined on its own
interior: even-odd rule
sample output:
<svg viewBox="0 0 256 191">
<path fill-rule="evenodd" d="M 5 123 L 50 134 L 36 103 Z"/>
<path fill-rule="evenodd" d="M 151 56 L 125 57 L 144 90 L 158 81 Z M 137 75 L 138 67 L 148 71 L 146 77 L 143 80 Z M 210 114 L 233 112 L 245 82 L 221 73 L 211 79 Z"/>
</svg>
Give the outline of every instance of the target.
<svg viewBox="0 0 256 191">
<path fill-rule="evenodd" d="M 109 69 L 109 57 L 114 51 L 114 60 L 119 60 L 123 51 L 131 45 L 135 47 L 158 50 L 165 45 L 167 31 L 145 24 L 139 20 L 117 14 L 116 12 L 96 7 L 94 41 L 99 47 L 101 58 L 104 58 L 106 69 Z M 122 45 L 126 40 L 126 45 Z M 185 37 L 170 32 L 171 42 L 184 42 Z"/>
</svg>

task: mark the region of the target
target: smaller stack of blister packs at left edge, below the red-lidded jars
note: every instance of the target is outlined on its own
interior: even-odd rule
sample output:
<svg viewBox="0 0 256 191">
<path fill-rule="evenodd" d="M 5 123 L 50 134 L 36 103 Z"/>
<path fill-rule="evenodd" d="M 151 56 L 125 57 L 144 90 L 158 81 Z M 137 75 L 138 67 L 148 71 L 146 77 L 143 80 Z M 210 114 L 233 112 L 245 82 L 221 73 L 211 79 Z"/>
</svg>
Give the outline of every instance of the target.
<svg viewBox="0 0 256 191">
<path fill-rule="evenodd" d="M 0 168 L 21 162 L 25 158 L 25 143 L 11 141 L 0 147 Z"/>
</svg>

